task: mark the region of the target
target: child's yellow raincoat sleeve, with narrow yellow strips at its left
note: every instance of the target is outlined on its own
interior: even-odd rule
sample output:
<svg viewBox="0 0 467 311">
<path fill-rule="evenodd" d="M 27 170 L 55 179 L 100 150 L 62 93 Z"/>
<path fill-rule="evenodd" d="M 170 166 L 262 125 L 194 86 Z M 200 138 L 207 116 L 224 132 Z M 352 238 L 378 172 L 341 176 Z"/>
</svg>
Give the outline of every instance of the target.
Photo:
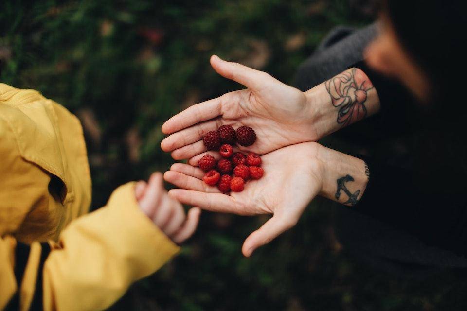
<svg viewBox="0 0 467 311">
<path fill-rule="evenodd" d="M 107 206 L 74 220 L 47 257 L 46 245 L 31 244 L 29 260 L 23 260 L 27 263 L 22 283 L 14 278 L 21 269 L 15 267 L 19 258 L 12 255 L 12 240 L 0 240 L 0 309 L 20 283 L 21 310 L 37 307 L 34 298 L 39 287 L 43 310 L 102 310 L 121 297 L 132 282 L 154 273 L 179 250 L 140 211 L 134 183 L 115 190 Z M 37 269 L 39 272 L 31 272 Z M 40 278 L 42 282 L 36 284 Z M 36 294 L 25 301 L 23 288 L 31 292 L 34 287 Z"/>
</svg>

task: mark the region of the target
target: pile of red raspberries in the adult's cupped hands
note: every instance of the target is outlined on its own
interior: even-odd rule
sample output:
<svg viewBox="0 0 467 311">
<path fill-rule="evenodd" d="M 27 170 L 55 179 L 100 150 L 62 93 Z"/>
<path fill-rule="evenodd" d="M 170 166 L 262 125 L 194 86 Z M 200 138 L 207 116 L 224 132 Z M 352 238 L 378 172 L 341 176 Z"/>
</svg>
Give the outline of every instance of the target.
<svg viewBox="0 0 467 311">
<path fill-rule="evenodd" d="M 245 182 L 249 179 L 260 179 L 264 170 L 259 155 L 250 153 L 247 156 L 241 152 L 234 153 L 232 145 L 237 142 L 242 146 L 251 146 L 256 140 L 256 134 L 248 126 L 240 126 L 236 131 L 230 125 L 222 125 L 217 131 L 209 131 L 204 135 L 203 143 L 210 150 L 219 151 L 222 156 L 216 163 L 212 155 L 204 155 L 198 166 L 207 172 L 203 180 L 209 186 L 216 186 L 220 191 L 243 191 Z"/>
</svg>

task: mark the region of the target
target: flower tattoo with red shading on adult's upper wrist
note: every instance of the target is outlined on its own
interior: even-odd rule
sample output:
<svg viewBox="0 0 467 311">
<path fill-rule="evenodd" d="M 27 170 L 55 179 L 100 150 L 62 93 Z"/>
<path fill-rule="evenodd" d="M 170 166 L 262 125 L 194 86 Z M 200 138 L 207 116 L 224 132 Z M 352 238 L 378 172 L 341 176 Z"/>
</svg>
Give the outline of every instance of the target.
<svg viewBox="0 0 467 311">
<path fill-rule="evenodd" d="M 333 106 L 339 108 L 337 122 L 342 127 L 365 118 L 367 91 L 373 85 L 363 71 L 357 68 L 346 70 L 327 80 L 324 85 Z"/>
</svg>

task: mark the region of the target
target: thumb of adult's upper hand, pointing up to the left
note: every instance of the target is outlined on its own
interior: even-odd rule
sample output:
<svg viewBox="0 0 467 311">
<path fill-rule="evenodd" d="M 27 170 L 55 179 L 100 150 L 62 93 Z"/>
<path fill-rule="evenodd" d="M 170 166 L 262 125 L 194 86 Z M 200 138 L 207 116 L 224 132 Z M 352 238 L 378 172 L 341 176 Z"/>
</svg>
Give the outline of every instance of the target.
<svg viewBox="0 0 467 311">
<path fill-rule="evenodd" d="M 221 76 L 254 90 L 259 90 L 264 85 L 265 80 L 274 79 L 264 71 L 252 69 L 239 63 L 226 62 L 217 55 L 211 56 L 211 66 Z"/>
</svg>

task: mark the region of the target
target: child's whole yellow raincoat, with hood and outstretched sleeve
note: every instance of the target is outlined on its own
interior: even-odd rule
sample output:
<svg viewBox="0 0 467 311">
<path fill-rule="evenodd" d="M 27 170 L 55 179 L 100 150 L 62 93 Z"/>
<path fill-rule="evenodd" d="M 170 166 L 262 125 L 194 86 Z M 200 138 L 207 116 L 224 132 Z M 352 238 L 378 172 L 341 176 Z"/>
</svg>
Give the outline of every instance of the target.
<svg viewBox="0 0 467 311">
<path fill-rule="evenodd" d="M 0 83 L 0 310 L 102 310 L 178 252 L 133 183 L 87 214 L 90 200 L 78 119 Z"/>
</svg>

